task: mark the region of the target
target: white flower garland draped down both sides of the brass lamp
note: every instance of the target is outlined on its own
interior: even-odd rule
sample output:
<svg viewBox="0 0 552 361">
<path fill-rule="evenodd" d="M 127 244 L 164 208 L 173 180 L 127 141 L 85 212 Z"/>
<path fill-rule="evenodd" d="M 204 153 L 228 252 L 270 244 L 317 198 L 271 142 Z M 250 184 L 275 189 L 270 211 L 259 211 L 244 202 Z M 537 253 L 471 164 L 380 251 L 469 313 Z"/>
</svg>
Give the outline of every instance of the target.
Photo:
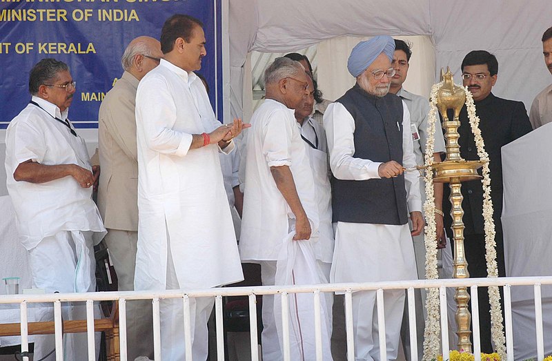
<svg viewBox="0 0 552 361">
<path fill-rule="evenodd" d="M 426 202 L 424 212 L 426 215 L 435 214 L 435 195 L 433 188 L 433 150 L 435 122 L 437 121 L 437 92 L 443 85 L 443 81 L 434 84 L 431 88 L 430 111 L 428 115 L 428 134 L 426 142 L 425 166 L 426 166 Z M 487 273 L 489 277 L 498 277 L 496 250 L 495 250 L 495 224 L 493 222 L 493 202 L 491 199 L 491 178 L 489 176 L 489 155 L 484 149 L 484 141 L 479 128 L 480 119 L 475 114 L 475 104 L 468 88 L 462 87 L 466 93 L 466 109 L 471 131 L 477 146 L 477 155 L 483 162 L 482 186 L 483 186 L 483 218 L 485 229 L 485 248 Z M 437 274 L 437 248 L 435 246 L 436 228 L 435 217 L 426 217 L 426 228 L 424 245 L 426 247 L 426 278 L 433 280 L 438 278 Z M 500 293 L 497 286 L 489 287 L 489 302 L 491 304 L 491 338 L 495 344 L 497 354 L 503 360 L 506 359 L 506 347 L 504 338 L 504 326 L 502 323 L 502 311 L 500 306 Z M 440 302 L 439 290 L 430 289 L 426 298 L 426 329 L 424 332 L 424 358 L 423 360 L 434 360 L 440 355 Z"/>
</svg>

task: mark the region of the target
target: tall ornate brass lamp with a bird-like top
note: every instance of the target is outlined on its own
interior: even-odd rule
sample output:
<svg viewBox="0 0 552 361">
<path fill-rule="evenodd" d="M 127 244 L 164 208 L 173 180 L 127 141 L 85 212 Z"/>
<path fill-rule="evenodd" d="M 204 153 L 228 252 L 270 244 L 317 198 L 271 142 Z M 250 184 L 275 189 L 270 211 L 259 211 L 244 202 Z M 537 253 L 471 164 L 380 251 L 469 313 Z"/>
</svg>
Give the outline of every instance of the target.
<svg viewBox="0 0 552 361">
<path fill-rule="evenodd" d="M 451 187 L 451 217 L 453 219 L 454 234 L 454 278 L 468 278 L 468 262 L 464 252 L 464 222 L 462 216 L 462 193 L 461 182 L 480 179 L 477 169 L 483 163 L 478 161 L 466 161 L 460 157 L 460 144 L 458 139 L 458 127 L 460 126 L 460 110 L 466 101 L 466 94 L 463 88 L 455 86 L 453 75 L 449 68 L 446 73 L 441 70 L 441 77 L 444 80 L 442 87 L 437 92 L 437 109 L 443 118 L 443 128 L 446 139 L 446 159 L 444 162 L 433 166 L 433 182 L 449 183 Z M 450 120 L 447 110 L 454 111 L 454 119 Z M 455 296 L 457 310 L 455 315 L 458 335 L 458 349 L 472 352 L 470 341 L 471 314 L 468 311 L 470 295 L 466 287 L 457 287 Z"/>
</svg>

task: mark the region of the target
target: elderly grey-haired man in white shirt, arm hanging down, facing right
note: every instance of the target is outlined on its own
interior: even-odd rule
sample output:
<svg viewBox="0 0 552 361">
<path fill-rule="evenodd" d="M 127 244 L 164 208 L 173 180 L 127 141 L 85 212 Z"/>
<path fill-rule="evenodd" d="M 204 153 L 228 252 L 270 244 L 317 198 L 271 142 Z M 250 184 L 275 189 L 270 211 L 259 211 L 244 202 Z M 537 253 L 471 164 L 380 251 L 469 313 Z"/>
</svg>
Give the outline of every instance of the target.
<svg viewBox="0 0 552 361">
<path fill-rule="evenodd" d="M 308 240 L 318 224 L 313 172 L 294 117 L 310 91 L 301 64 L 277 58 L 264 72 L 266 100 L 246 135 L 244 216 L 239 252 L 261 264 L 264 285 L 275 284 L 276 261 L 284 238 Z M 263 360 L 280 360 L 274 296 L 263 296 Z M 279 320 L 278 320 L 279 321 Z"/>
</svg>

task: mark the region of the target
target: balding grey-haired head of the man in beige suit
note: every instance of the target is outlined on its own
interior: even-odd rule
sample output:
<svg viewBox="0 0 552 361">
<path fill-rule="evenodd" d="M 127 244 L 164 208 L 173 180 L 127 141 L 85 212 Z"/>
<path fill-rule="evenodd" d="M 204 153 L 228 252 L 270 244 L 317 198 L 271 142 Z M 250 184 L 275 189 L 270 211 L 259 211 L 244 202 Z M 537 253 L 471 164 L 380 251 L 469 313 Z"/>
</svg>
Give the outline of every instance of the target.
<svg viewBox="0 0 552 361">
<path fill-rule="evenodd" d="M 121 64 L 124 70 L 130 72 L 138 80 L 159 65 L 163 57 L 161 43 L 152 37 L 137 37 L 130 41 L 125 49 Z"/>
</svg>

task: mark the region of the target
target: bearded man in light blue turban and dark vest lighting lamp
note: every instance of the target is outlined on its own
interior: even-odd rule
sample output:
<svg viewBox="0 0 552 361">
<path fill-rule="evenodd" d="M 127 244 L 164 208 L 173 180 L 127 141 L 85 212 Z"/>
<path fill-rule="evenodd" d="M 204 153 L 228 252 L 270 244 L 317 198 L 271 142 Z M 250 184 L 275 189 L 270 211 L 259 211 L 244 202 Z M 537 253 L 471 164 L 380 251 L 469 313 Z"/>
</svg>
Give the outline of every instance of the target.
<svg viewBox="0 0 552 361">
<path fill-rule="evenodd" d="M 358 43 L 347 64 L 357 82 L 324 114 L 336 232 L 331 282 L 417 279 L 411 235 L 424 220 L 418 174 L 405 173 L 415 166 L 410 115 L 388 92 L 394 50 L 387 36 Z M 404 291 L 384 291 L 386 350 L 375 299 L 375 291 L 353 293 L 355 360 L 397 358 Z"/>
</svg>

